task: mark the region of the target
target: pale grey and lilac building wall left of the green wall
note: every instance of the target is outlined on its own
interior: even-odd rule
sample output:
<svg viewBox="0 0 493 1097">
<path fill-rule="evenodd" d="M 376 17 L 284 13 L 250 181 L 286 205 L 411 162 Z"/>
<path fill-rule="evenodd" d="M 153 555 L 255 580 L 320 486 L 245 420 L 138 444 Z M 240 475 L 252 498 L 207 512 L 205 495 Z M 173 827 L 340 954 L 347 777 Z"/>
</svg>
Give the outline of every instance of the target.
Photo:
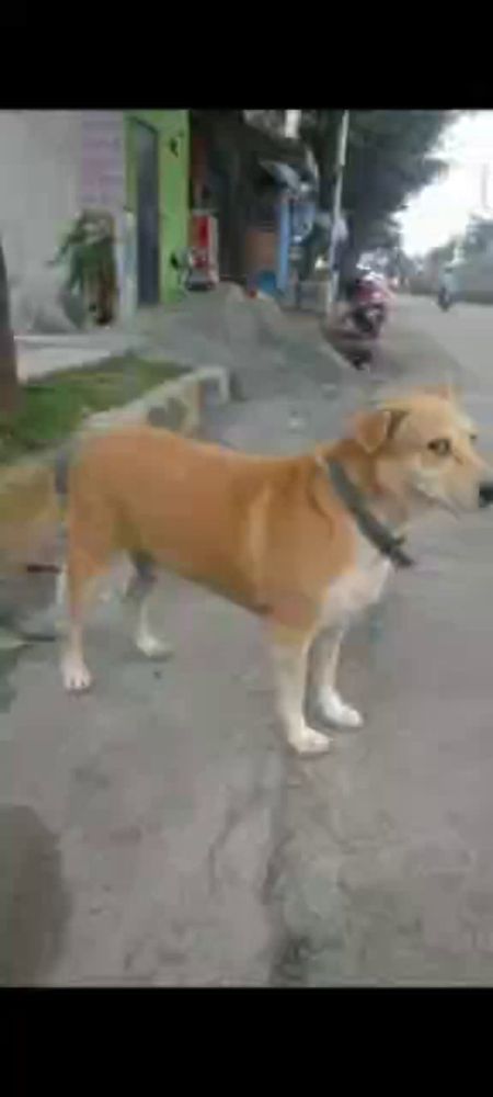
<svg viewBox="0 0 493 1097">
<path fill-rule="evenodd" d="M 82 208 L 113 213 L 122 286 L 123 112 L 0 111 L 0 233 L 14 327 L 70 330 L 60 296 L 66 269 L 49 261 Z"/>
</svg>

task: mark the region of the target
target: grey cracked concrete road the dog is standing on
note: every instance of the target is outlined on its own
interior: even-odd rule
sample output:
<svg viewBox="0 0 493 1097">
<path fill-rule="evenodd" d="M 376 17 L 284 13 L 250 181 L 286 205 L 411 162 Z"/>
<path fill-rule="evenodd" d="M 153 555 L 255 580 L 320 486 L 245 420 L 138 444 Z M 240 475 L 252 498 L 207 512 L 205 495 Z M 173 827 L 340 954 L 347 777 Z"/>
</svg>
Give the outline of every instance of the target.
<svg viewBox="0 0 493 1097">
<path fill-rule="evenodd" d="M 493 451 L 493 309 L 400 301 L 364 376 L 298 335 L 243 363 L 214 433 L 289 452 L 381 383 L 450 377 Z M 493 516 L 411 540 L 343 658 L 367 723 L 323 759 L 285 751 L 255 623 L 175 580 L 170 663 L 134 653 L 114 584 L 92 694 L 64 695 L 49 646 L 4 657 L 0 982 L 493 982 Z"/>
</svg>

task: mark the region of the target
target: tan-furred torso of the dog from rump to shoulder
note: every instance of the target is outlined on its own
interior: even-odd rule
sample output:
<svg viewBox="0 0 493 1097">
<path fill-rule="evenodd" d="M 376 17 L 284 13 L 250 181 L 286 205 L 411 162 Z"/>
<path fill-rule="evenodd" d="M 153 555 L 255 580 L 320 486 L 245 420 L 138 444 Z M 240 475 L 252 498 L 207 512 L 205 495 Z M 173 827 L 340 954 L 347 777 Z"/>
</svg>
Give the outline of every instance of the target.
<svg viewBox="0 0 493 1097">
<path fill-rule="evenodd" d="M 149 427 L 89 445 L 70 478 L 69 581 L 119 551 L 253 612 L 309 629 L 320 591 L 351 559 L 351 522 L 313 454 L 256 457 Z M 326 496 L 320 506 L 317 496 Z"/>
</svg>

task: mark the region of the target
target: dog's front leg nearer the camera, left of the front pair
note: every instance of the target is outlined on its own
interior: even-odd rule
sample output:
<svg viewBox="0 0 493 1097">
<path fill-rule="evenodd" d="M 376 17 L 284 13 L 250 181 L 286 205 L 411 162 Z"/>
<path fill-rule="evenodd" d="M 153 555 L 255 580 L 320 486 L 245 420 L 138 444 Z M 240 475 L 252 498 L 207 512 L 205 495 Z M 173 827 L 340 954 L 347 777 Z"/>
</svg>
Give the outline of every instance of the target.
<svg viewBox="0 0 493 1097">
<path fill-rule="evenodd" d="M 311 637 L 275 626 L 270 638 L 277 711 L 286 738 L 298 754 L 323 754 L 329 749 L 329 737 L 309 727 L 303 715 Z"/>
</svg>

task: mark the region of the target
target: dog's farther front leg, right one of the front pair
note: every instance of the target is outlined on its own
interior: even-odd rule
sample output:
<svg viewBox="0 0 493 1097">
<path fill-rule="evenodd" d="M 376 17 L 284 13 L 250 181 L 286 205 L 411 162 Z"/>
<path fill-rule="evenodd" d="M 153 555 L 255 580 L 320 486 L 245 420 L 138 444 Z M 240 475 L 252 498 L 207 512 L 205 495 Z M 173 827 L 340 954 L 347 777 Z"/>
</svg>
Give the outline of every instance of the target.
<svg viewBox="0 0 493 1097">
<path fill-rule="evenodd" d="M 335 678 L 345 629 L 325 631 L 317 637 L 311 652 L 310 678 L 320 715 L 337 727 L 360 727 L 363 717 L 346 704 L 335 688 Z"/>
</svg>

